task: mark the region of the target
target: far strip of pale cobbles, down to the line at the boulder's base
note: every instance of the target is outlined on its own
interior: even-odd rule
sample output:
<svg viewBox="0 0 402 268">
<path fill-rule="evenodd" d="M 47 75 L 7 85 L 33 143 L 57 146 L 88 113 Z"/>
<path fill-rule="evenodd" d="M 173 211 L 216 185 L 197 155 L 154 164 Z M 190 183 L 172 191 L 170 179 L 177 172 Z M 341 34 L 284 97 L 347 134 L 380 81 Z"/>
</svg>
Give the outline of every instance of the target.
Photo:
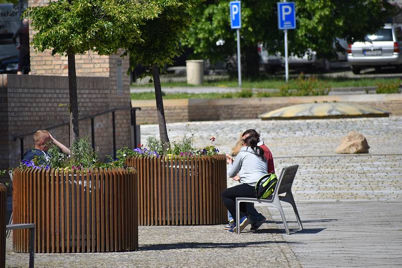
<svg viewBox="0 0 402 268">
<path fill-rule="evenodd" d="M 237 112 L 236 110 L 228 112 Z M 239 111 L 241 112 L 241 111 Z M 230 153 L 240 133 L 255 128 L 261 133 L 274 157 L 294 155 L 333 155 L 342 137 L 349 131 L 361 132 L 370 146 L 370 154 L 402 153 L 402 116 L 380 118 L 344 118 L 275 120 L 260 119 L 168 123 L 168 135 L 177 141 L 194 134 L 194 146 L 209 145 L 210 137 L 222 153 Z M 141 125 L 141 142 L 159 137 L 158 125 Z"/>
</svg>

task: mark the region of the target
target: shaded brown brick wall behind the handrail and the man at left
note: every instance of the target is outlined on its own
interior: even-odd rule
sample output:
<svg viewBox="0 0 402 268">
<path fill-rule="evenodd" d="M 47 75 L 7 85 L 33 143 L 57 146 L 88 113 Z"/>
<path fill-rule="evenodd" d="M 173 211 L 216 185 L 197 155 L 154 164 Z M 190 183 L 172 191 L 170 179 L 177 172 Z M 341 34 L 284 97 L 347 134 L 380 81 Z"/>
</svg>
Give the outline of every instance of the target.
<svg viewBox="0 0 402 268">
<path fill-rule="evenodd" d="M 59 104 L 69 102 L 68 77 L 37 75 L 0 75 L 8 80 L 7 87 L 0 90 L 2 101 L 2 137 L 7 137 L 5 148 L 0 159 L 6 159 L 0 168 L 15 166 L 21 159 L 20 141 L 13 138 L 27 132 L 46 128 L 69 120 L 66 107 Z M 130 107 L 128 84 L 123 85 L 123 92 L 118 93 L 110 84 L 108 77 L 78 77 L 77 93 L 79 117 L 84 117 L 108 109 Z M 4 108 L 5 107 L 5 108 Z M 130 112 L 116 111 L 116 147 L 131 146 Z M 3 120 L 5 116 L 5 120 Z M 6 123 L 5 123 L 6 122 Z M 90 119 L 80 121 L 80 136 L 90 136 Z M 112 114 L 108 113 L 94 119 L 95 146 L 99 148 L 99 156 L 113 154 Z M 52 135 L 68 146 L 68 126 L 51 130 Z M 5 142 L 5 141 L 3 141 Z M 7 147 L 8 144 L 8 147 Z M 24 139 L 24 151 L 33 147 L 32 137 Z M 8 162 L 8 164 L 6 163 Z"/>
</svg>

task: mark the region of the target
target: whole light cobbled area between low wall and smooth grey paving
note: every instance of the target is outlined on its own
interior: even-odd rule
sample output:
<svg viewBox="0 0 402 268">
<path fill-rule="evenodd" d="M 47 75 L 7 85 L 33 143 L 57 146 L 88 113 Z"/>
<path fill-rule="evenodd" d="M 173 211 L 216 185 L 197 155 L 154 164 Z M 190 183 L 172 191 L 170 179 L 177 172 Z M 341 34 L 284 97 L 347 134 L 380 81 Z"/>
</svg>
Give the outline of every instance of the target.
<svg viewBox="0 0 402 268">
<path fill-rule="evenodd" d="M 189 124 L 189 125 L 188 125 Z M 215 145 L 229 153 L 239 135 L 256 128 L 270 148 L 276 173 L 298 164 L 294 197 L 303 200 L 401 200 L 402 116 L 329 120 L 231 120 L 168 124 L 169 138 L 194 134 L 202 148 L 216 137 Z M 335 155 L 343 136 L 356 130 L 366 137 L 370 154 Z M 141 126 L 141 141 L 155 135 L 157 125 Z M 235 182 L 228 178 L 228 186 Z"/>
</svg>

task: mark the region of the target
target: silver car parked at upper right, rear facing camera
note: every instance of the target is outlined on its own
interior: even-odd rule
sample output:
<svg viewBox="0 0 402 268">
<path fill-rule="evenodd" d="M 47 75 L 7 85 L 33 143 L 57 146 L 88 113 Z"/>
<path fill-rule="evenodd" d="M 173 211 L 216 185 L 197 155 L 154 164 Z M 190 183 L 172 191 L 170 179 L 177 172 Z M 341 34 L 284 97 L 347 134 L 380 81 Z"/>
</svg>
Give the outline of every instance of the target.
<svg viewBox="0 0 402 268">
<path fill-rule="evenodd" d="M 361 69 L 402 64 L 402 29 L 400 25 L 385 25 L 375 34 L 366 35 L 363 42 L 348 45 L 348 62 L 354 74 Z"/>
</svg>

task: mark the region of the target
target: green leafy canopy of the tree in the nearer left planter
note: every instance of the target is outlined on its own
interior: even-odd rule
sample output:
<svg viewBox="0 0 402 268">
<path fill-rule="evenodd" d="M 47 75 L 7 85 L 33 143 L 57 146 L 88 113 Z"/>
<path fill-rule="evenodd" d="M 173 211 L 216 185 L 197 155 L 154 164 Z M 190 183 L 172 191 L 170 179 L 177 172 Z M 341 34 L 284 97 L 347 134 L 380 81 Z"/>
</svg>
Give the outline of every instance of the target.
<svg viewBox="0 0 402 268">
<path fill-rule="evenodd" d="M 71 4 L 69 3 L 71 2 Z M 33 44 L 52 54 L 111 55 L 129 44 L 141 43 L 139 25 L 154 18 L 159 7 L 153 1 L 59 0 L 34 7 L 26 15 L 37 32 Z"/>
</svg>

